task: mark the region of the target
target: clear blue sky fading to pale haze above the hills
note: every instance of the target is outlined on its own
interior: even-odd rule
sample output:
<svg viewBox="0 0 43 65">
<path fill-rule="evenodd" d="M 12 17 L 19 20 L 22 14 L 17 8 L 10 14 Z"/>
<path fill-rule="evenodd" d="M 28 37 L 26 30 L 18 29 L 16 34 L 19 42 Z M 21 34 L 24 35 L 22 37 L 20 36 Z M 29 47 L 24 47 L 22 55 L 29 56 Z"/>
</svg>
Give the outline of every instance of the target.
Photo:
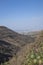
<svg viewBox="0 0 43 65">
<path fill-rule="evenodd" d="M 0 0 L 0 26 L 15 31 L 43 30 L 43 0 Z"/>
</svg>

